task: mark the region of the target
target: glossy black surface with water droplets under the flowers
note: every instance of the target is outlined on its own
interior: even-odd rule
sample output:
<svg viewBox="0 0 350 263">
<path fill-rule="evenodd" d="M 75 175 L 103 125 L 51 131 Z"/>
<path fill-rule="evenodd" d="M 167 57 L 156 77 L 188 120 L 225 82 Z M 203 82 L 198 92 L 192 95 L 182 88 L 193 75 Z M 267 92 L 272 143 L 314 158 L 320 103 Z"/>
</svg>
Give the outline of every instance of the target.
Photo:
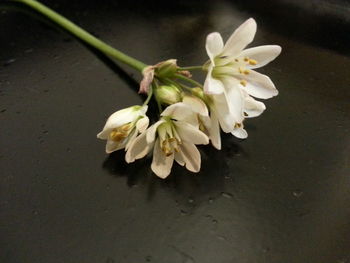
<svg viewBox="0 0 350 263">
<path fill-rule="evenodd" d="M 349 2 L 45 3 L 150 64 L 202 63 L 252 16 L 280 95 L 199 174 L 158 179 L 96 139 L 140 76 L 1 2 L 0 262 L 350 262 Z"/>
</svg>

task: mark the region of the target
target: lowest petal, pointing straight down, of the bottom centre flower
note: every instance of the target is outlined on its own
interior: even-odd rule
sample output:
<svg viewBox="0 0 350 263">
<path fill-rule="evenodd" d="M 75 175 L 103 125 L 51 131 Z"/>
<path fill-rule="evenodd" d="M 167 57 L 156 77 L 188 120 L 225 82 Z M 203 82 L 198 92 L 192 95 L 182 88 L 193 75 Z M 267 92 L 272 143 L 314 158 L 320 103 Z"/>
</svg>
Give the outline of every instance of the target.
<svg viewBox="0 0 350 263">
<path fill-rule="evenodd" d="M 173 162 L 174 154 L 166 156 L 160 148 L 159 139 L 157 139 L 153 150 L 153 161 L 151 165 L 152 171 L 158 177 L 164 179 L 170 174 Z"/>
</svg>

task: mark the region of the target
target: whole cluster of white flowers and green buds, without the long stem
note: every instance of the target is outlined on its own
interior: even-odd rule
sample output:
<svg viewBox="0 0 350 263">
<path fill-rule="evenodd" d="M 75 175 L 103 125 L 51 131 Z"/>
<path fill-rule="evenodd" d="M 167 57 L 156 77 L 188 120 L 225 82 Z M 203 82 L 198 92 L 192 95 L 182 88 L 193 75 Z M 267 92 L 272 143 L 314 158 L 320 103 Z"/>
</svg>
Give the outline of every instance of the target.
<svg viewBox="0 0 350 263">
<path fill-rule="evenodd" d="M 140 93 L 148 94 L 143 106 L 112 114 L 97 137 L 107 140 L 106 152 L 125 148 L 128 163 L 153 151 L 152 171 L 166 178 L 174 160 L 191 172 L 201 166 L 199 144 L 221 149 L 220 131 L 247 138 L 244 120 L 259 116 L 264 103 L 278 94 L 266 75 L 254 69 L 275 59 L 281 47 L 266 45 L 244 49 L 252 42 L 256 22 L 250 18 L 224 44 L 219 33 L 206 39 L 208 62 L 201 67 L 181 68 L 176 60 L 160 62 L 143 70 Z M 193 80 L 191 70 L 207 72 L 204 85 Z M 147 104 L 154 98 L 159 120 L 148 127 Z"/>
</svg>

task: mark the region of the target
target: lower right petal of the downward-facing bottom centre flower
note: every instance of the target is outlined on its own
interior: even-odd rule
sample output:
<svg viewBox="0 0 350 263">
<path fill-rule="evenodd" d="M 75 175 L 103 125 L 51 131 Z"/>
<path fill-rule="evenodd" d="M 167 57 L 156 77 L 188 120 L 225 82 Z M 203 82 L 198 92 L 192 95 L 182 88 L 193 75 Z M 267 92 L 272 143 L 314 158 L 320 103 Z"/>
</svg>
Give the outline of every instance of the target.
<svg viewBox="0 0 350 263">
<path fill-rule="evenodd" d="M 180 146 L 180 152 L 187 170 L 197 173 L 201 168 L 201 155 L 193 143 L 184 143 Z"/>
</svg>

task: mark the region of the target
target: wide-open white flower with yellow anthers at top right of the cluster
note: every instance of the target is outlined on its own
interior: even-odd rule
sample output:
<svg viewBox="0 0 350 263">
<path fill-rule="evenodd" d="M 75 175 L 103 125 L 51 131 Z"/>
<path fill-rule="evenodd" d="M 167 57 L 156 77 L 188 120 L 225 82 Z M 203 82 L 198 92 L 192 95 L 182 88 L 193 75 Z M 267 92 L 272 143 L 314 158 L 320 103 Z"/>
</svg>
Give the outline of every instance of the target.
<svg viewBox="0 0 350 263">
<path fill-rule="evenodd" d="M 225 86 L 241 84 L 249 95 L 256 98 L 267 99 L 278 94 L 269 77 L 252 69 L 274 60 L 280 54 L 281 47 L 267 45 L 243 50 L 252 42 L 255 32 L 256 22 L 250 18 L 233 32 L 225 45 L 219 33 L 208 35 L 206 50 L 210 64 L 204 85 L 206 93 L 222 93 Z"/>
</svg>

